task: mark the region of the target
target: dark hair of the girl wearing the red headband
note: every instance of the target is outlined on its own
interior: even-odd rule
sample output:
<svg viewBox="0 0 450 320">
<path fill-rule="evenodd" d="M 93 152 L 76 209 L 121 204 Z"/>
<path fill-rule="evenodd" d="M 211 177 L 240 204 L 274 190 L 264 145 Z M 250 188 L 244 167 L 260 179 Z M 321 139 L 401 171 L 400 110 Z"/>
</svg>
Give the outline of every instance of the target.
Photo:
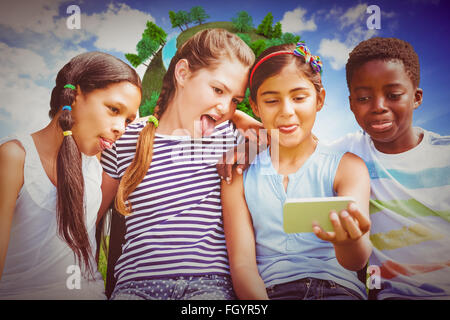
<svg viewBox="0 0 450 320">
<path fill-rule="evenodd" d="M 277 52 L 277 51 L 294 51 L 295 44 L 282 44 L 278 46 L 270 47 L 264 50 L 261 55 L 256 59 L 253 67 L 250 69 L 249 73 L 249 83 L 250 83 L 250 75 L 253 72 L 256 64 L 263 59 L 265 56 Z M 312 82 L 314 88 L 317 93 L 320 93 L 320 90 L 323 88 L 322 78 L 319 72 L 313 70 L 311 65 L 305 63 L 305 58 L 303 56 L 295 56 L 293 54 L 280 54 L 277 56 L 273 56 L 268 58 L 266 61 L 261 63 L 258 68 L 255 70 L 252 78 L 252 82 L 250 85 L 250 98 L 256 102 L 256 94 L 258 92 L 259 87 L 262 83 L 270 77 L 273 77 L 279 74 L 284 67 L 288 66 L 291 63 L 295 63 L 298 67 L 299 71 L 301 71 L 309 81 Z"/>
</svg>

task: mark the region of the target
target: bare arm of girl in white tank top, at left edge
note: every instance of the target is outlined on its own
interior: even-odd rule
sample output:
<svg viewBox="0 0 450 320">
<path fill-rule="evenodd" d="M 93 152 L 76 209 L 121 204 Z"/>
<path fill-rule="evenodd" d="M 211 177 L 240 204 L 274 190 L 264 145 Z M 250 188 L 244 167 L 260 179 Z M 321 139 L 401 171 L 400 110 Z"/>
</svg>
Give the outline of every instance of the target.
<svg viewBox="0 0 450 320">
<path fill-rule="evenodd" d="M 15 141 L 0 146 L 0 279 L 5 265 L 16 200 L 23 185 L 25 150 Z"/>
</svg>

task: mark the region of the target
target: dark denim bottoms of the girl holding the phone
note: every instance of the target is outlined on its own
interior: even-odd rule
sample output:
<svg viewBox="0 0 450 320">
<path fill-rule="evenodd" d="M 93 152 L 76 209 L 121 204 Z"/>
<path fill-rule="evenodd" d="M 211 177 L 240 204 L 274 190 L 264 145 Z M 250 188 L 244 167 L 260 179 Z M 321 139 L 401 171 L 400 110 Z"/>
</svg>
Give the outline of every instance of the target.
<svg viewBox="0 0 450 320">
<path fill-rule="evenodd" d="M 360 294 L 331 280 L 305 278 L 267 288 L 271 300 L 362 300 Z"/>
</svg>

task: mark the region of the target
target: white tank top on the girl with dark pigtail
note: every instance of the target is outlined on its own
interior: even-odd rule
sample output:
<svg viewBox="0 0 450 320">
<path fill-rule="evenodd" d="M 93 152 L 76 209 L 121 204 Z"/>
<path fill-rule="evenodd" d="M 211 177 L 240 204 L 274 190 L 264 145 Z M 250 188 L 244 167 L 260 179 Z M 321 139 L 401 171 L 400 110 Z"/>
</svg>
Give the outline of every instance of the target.
<svg viewBox="0 0 450 320">
<path fill-rule="evenodd" d="M 73 251 L 57 232 L 56 187 L 48 178 L 30 135 L 18 140 L 25 149 L 24 183 L 12 220 L 0 299 L 106 299 L 97 271 L 87 280 Z M 86 226 L 95 256 L 95 222 L 101 204 L 102 168 L 98 159 L 82 154 Z"/>
</svg>

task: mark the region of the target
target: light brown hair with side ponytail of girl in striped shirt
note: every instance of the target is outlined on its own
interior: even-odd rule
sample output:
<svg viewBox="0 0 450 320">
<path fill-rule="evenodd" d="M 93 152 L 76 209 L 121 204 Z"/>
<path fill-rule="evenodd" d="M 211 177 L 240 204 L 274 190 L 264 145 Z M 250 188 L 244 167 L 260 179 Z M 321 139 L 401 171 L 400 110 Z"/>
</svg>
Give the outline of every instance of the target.
<svg viewBox="0 0 450 320">
<path fill-rule="evenodd" d="M 224 58 L 237 59 L 244 66 L 250 66 L 255 60 L 253 51 L 235 34 L 224 29 L 205 29 L 187 40 L 170 62 L 164 75 L 161 92 L 153 115 L 159 120 L 175 95 L 176 79 L 175 65 L 181 59 L 186 59 L 191 72 L 202 68 L 214 68 Z M 129 195 L 136 189 L 147 174 L 153 156 L 153 140 L 156 127 L 148 122 L 141 130 L 136 145 L 136 154 L 130 166 L 126 169 L 116 195 L 116 209 L 123 215 L 131 214 L 132 207 L 128 201 Z"/>
</svg>

